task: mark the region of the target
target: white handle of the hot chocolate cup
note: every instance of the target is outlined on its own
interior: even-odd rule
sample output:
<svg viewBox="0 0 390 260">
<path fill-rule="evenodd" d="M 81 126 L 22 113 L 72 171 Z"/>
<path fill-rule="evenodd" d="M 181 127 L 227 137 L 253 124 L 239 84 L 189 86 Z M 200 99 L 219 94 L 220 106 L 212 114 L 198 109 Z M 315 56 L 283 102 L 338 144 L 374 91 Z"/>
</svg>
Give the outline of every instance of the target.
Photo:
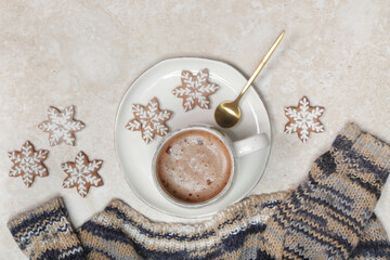
<svg viewBox="0 0 390 260">
<path fill-rule="evenodd" d="M 247 154 L 251 154 L 256 151 L 269 146 L 270 139 L 265 133 L 259 133 L 253 136 L 235 141 L 233 143 L 234 151 L 236 152 L 237 157 L 242 157 Z"/>
</svg>

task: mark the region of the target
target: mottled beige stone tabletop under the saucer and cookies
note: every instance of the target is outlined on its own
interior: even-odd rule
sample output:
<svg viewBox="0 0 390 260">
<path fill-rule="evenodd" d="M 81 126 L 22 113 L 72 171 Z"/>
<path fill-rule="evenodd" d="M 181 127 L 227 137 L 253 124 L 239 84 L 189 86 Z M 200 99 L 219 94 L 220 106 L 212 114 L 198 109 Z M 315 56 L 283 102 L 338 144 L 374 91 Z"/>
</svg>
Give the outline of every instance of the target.
<svg viewBox="0 0 390 260">
<path fill-rule="evenodd" d="M 202 56 L 250 75 L 273 39 L 283 44 L 256 80 L 273 144 L 255 193 L 295 187 L 348 121 L 390 142 L 390 5 L 388 1 L 0 1 L 0 259 L 25 259 L 5 223 L 17 212 L 63 196 L 78 226 L 121 198 L 152 219 L 125 182 L 114 150 L 114 120 L 129 84 L 158 61 Z M 308 95 L 326 107 L 326 132 L 302 144 L 284 134 L 284 106 Z M 87 128 L 77 146 L 50 148 L 50 177 L 26 188 L 10 178 L 6 152 L 30 140 L 49 148 L 37 125 L 49 105 L 76 105 Z M 60 165 L 78 151 L 104 159 L 105 185 L 82 199 L 61 187 Z M 376 208 L 390 232 L 390 181 Z"/>
</svg>

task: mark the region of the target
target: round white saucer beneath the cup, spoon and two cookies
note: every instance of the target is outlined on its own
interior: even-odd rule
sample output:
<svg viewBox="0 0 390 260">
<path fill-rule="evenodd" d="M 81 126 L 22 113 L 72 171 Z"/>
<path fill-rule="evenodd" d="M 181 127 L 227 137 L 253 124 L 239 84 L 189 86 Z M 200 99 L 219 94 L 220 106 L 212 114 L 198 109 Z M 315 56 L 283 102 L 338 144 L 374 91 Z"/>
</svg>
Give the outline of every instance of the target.
<svg viewBox="0 0 390 260">
<path fill-rule="evenodd" d="M 181 84 L 180 76 L 183 69 L 197 73 L 203 68 L 209 69 L 209 81 L 220 88 L 209 96 L 210 109 L 196 106 L 193 110 L 184 112 L 182 100 L 176 98 L 171 91 Z M 218 127 L 213 119 L 214 108 L 222 101 L 235 99 L 246 81 L 247 79 L 238 70 L 225 63 L 198 57 L 179 57 L 154 65 L 130 86 L 118 108 L 115 145 L 129 185 L 145 204 L 168 214 L 198 218 L 212 214 L 236 203 L 253 190 L 265 169 L 270 146 L 238 159 L 233 184 L 220 200 L 195 209 L 174 205 L 158 192 L 152 178 L 152 159 L 161 138 L 156 135 L 155 140 L 146 144 L 141 138 L 141 132 L 125 129 L 126 123 L 133 118 L 131 105 L 146 105 L 154 96 L 158 99 L 160 109 L 173 112 L 167 122 L 170 130 L 199 122 Z M 271 140 L 270 120 L 265 107 L 252 88 L 240 101 L 240 108 L 243 117 L 238 125 L 222 131 L 233 141 L 260 132 L 265 132 Z"/>
</svg>

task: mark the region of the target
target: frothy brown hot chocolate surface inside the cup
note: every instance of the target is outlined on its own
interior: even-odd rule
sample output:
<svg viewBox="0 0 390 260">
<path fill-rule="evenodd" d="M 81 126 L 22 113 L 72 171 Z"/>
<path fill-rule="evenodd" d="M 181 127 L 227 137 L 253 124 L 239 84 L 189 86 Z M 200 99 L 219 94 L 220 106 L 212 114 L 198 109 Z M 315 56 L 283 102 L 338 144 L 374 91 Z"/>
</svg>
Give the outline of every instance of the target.
<svg viewBox="0 0 390 260">
<path fill-rule="evenodd" d="M 171 138 L 157 158 L 157 179 L 173 198 L 202 203 L 217 196 L 227 184 L 232 158 L 216 135 L 188 130 Z"/>
</svg>

